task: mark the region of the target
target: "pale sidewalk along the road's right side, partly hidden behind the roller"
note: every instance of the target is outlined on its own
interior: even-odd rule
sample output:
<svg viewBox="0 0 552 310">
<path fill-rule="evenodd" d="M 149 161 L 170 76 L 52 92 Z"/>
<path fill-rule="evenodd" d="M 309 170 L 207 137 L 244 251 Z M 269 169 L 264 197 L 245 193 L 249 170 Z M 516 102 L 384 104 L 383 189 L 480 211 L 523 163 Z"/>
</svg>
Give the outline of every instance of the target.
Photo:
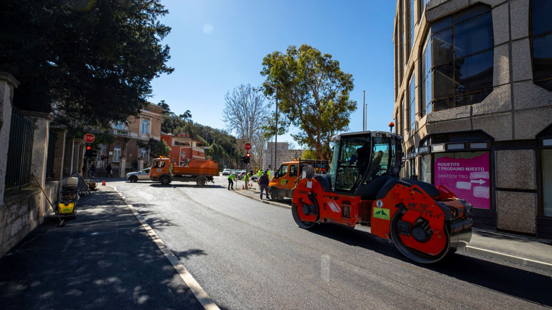
<svg viewBox="0 0 552 310">
<path fill-rule="evenodd" d="M 257 184 L 254 184 L 253 189 L 248 190 L 242 190 L 242 184 L 240 184 L 240 189 L 237 190 L 237 193 L 251 197 L 252 199 L 260 200 L 259 186 Z M 291 199 L 283 199 L 281 201 L 263 199 L 263 202 L 270 205 L 291 208 Z M 363 227 L 362 229 L 369 228 Z M 466 250 L 470 253 L 491 256 L 493 258 L 503 259 L 513 263 L 521 263 L 542 269 L 552 270 L 552 242 L 550 242 L 550 240 L 540 240 L 537 238 L 518 236 L 515 234 L 474 229 L 471 241 Z M 549 265 L 531 264 L 530 262 L 524 263 L 515 257 L 512 258 L 511 256 L 523 258 L 524 260 L 534 260 Z"/>
</svg>

